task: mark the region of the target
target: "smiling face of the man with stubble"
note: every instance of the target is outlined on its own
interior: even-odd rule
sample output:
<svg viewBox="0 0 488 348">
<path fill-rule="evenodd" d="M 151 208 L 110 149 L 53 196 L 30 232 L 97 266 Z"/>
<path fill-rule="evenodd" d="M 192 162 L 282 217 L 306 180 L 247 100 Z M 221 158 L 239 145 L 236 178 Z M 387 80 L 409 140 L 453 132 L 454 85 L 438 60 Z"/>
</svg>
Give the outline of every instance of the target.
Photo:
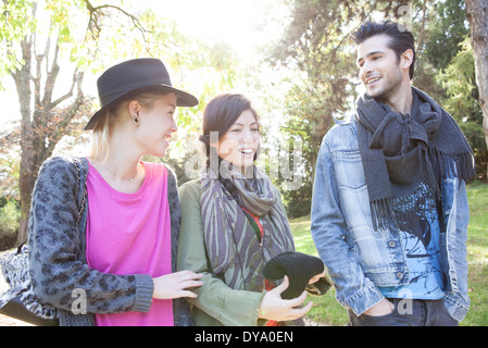
<svg viewBox="0 0 488 348">
<path fill-rule="evenodd" d="M 358 46 L 361 82 L 371 97 L 386 101 L 393 98 L 402 85 L 410 85 L 409 57 L 404 53 L 398 59 L 388 46 L 390 39 L 386 35 L 376 35 Z"/>
</svg>

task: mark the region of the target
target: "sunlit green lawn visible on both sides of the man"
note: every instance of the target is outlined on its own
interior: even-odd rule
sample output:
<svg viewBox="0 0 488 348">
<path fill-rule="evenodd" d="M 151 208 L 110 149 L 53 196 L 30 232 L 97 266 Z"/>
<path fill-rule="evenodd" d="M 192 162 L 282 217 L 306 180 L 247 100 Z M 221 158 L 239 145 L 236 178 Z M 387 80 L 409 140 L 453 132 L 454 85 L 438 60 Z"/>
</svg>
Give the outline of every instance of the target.
<svg viewBox="0 0 488 348">
<path fill-rule="evenodd" d="M 468 291 L 471 308 L 461 326 L 488 326 L 488 185 L 480 182 L 467 186 L 470 225 L 467 229 Z M 297 251 L 318 256 L 310 234 L 310 216 L 290 221 Z M 335 290 L 325 296 L 309 296 L 313 307 L 308 316 L 320 325 L 342 326 L 348 323 L 347 310 Z"/>
</svg>

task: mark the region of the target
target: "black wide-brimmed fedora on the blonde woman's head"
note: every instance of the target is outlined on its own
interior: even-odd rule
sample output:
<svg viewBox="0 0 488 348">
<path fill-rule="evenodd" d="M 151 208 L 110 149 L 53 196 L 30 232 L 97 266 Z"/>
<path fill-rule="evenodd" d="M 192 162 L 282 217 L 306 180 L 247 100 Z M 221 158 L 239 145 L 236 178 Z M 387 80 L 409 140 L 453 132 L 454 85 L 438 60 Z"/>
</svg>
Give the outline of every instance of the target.
<svg viewBox="0 0 488 348">
<path fill-rule="evenodd" d="M 139 58 L 108 69 L 97 80 L 100 110 L 88 121 L 85 130 L 93 129 L 100 116 L 115 101 L 147 91 L 174 92 L 177 107 L 195 107 L 198 99 L 174 88 L 163 62 L 155 58 Z"/>
</svg>

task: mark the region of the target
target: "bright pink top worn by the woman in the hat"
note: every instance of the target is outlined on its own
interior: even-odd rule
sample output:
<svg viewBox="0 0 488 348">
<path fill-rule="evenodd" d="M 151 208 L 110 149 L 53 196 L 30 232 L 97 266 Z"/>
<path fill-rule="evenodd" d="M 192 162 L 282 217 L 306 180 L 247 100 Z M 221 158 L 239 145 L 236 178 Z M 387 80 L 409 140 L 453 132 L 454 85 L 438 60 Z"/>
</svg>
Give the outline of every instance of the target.
<svg viewBox="0 0 488 348">
<path fill-rule="evenodd" d="M 146 176 L 139 190 L 113 189 L 90 164 L 87 178 L 87 261 L 92 270 L 127 275 L 168 274 L 171 216 L 167 170 L 141 162 Z M 173 301 L 153 299 L 147 313 L 96 314 L 99 326 L 173 326 Z"/>
</svg>

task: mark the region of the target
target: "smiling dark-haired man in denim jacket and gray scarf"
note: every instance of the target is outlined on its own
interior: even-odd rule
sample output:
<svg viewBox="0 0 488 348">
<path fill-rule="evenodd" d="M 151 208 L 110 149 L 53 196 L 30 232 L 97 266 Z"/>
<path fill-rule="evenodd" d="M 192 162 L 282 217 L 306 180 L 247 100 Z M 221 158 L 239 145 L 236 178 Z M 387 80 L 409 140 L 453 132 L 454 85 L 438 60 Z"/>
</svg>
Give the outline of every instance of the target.
<svg viewBox="0 0 488 348">
<path fill-rule="evenodd" d="M 413 87 L 413 36 L 365 23 L 366 92 L 324 137 L 311 232 L 351 325 L 458 325 L 470 307 L 465 181 L 472 150 L 452 117 Z"/>
</svg>

